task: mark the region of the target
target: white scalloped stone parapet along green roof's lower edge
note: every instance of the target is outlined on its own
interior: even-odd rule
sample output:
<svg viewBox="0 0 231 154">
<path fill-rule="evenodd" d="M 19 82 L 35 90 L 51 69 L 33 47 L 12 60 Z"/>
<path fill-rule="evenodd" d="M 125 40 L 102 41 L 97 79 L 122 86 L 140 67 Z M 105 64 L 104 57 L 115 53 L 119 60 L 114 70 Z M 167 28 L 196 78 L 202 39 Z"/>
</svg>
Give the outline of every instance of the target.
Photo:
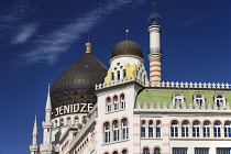
<svg viewBox="0 0 231 154">
<path fill-rule="evenodd" d="M 152 111 L 152 110 L 155 110 L 155 111 L 173 111 L 173 110 L 182 110 L 184 112 L 189 112 L 189 110 L 195 110 L 195 111 L 205 111 L 205 110 L 208 110 L 208 111 L 224 111 L 224 110 L 229 110 L 230 111 L 230 103 L 227 102 L 226 106 L 217 106 L 217 103 L 215 103 L 213 106 L 211 106 L 212 103 L 207 103 L 207 105 L 202 105 L 202 106 L 198 106 L 198 103 L 191 103 L 189 102 L 188 105 L 185 105 L 185 102 L 183 105 L 173 105 L 173 102 L 163 102 L 163 105 L 161 105 L 160 102 L 156 102 L 156 103 L 153 103 L 153 102 L 150 102 L 150 103 L 146 103 L 146 102 L 138 102 L 136 106 L 135 106 L 135 109 L 138 110 L 144 110 L 144 111 Z"/>
</svg>

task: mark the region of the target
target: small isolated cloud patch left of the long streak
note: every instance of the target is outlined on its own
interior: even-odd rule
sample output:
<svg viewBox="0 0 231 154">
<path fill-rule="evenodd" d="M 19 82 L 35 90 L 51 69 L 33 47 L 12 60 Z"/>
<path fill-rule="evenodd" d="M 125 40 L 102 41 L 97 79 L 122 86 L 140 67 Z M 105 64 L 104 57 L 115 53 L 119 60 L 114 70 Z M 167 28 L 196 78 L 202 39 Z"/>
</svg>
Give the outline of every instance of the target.
<svg viewBox="0 0 231 154">
<path fill-rule="evenodd" d="M 13 44 L 25 43 L 37 31 L 36 23 L 23 24 L 16 35 L 13 37 Z"/>
</svg>

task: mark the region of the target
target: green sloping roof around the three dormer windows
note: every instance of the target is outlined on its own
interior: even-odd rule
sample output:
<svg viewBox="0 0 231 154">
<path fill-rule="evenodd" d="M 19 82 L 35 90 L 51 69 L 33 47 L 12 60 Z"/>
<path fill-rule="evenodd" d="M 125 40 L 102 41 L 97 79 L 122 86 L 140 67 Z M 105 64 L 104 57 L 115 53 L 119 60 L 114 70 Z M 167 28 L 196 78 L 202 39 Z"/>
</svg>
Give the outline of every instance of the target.
<svg viewBox="0 0 231 154">
<path fill-rule="evenodd" d="M 194 102 L 194 95 L 196 92 L 202 92 L 205 95 L 206 106 L 208 103 L 213 107 L 213 97 L 216 94 L 223 94 L 227 98 L 227 102 L 231 102 L 231 90 L 219 90 L 219 89 L 156 89 L 156 88 L 147 88 L 143 89 L 136 97 L 136 102 L 140 102 L 142 106 L 144 102 L 146 105 L 151 105 L 151 102 L 156 106 L 157 102 L 162 106 L 166 102 L 167 106 L 172 102 L 172 96 L 174 92 L 182 92 L 185 97 L 185 105 L 188 106 L 189 102 Z M 230 103 L 231 105 L 231 103 Z M 136 106 L 136 105 L 135 105 Z"/>
</svg>

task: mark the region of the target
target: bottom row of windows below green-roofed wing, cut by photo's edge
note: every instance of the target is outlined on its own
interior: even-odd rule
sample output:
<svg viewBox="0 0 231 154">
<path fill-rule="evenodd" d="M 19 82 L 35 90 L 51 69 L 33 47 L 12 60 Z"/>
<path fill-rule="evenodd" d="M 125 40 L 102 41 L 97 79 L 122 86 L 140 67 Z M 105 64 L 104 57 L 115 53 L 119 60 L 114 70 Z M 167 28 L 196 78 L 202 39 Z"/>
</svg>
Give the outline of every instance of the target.
<svg viewBox="0 0 231 154">
<path fill-rule="evenodd" d="M 173 147 L 173 154 L 188 154 L 187 147 Z M 216 154 L 231 154 L 231 147 L 217 147 Z M 195 147 L 195 154 L 209 154 L 209 147 Z M 148 147 L 144 147 L 142 154 L 161 154 L 158 147 L 154 148 L 154 152 L 151 153 Z"/>
</svg>

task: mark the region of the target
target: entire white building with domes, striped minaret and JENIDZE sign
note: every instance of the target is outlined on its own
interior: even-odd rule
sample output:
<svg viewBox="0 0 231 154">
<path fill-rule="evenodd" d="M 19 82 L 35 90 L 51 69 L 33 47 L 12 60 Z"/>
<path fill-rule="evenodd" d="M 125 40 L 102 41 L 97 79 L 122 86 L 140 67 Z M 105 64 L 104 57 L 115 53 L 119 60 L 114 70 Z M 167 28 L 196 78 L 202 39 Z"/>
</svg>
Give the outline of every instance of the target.
<svg viewBox="0 0 231 154">
<path fill-rule="evenodd" d="M 52 85 L 43 143 L 35 120 L 31 154 L 231 154 L 231 85 L 162 81 L 161 16 L 153 12 L 148 22 L 150 78 L 136 43 L 118 43 L 109 69 L 87 43 Z M 87 74 L 92 90 L 85 75 L 96 64 L 103 77 Z"/>
</svg>

